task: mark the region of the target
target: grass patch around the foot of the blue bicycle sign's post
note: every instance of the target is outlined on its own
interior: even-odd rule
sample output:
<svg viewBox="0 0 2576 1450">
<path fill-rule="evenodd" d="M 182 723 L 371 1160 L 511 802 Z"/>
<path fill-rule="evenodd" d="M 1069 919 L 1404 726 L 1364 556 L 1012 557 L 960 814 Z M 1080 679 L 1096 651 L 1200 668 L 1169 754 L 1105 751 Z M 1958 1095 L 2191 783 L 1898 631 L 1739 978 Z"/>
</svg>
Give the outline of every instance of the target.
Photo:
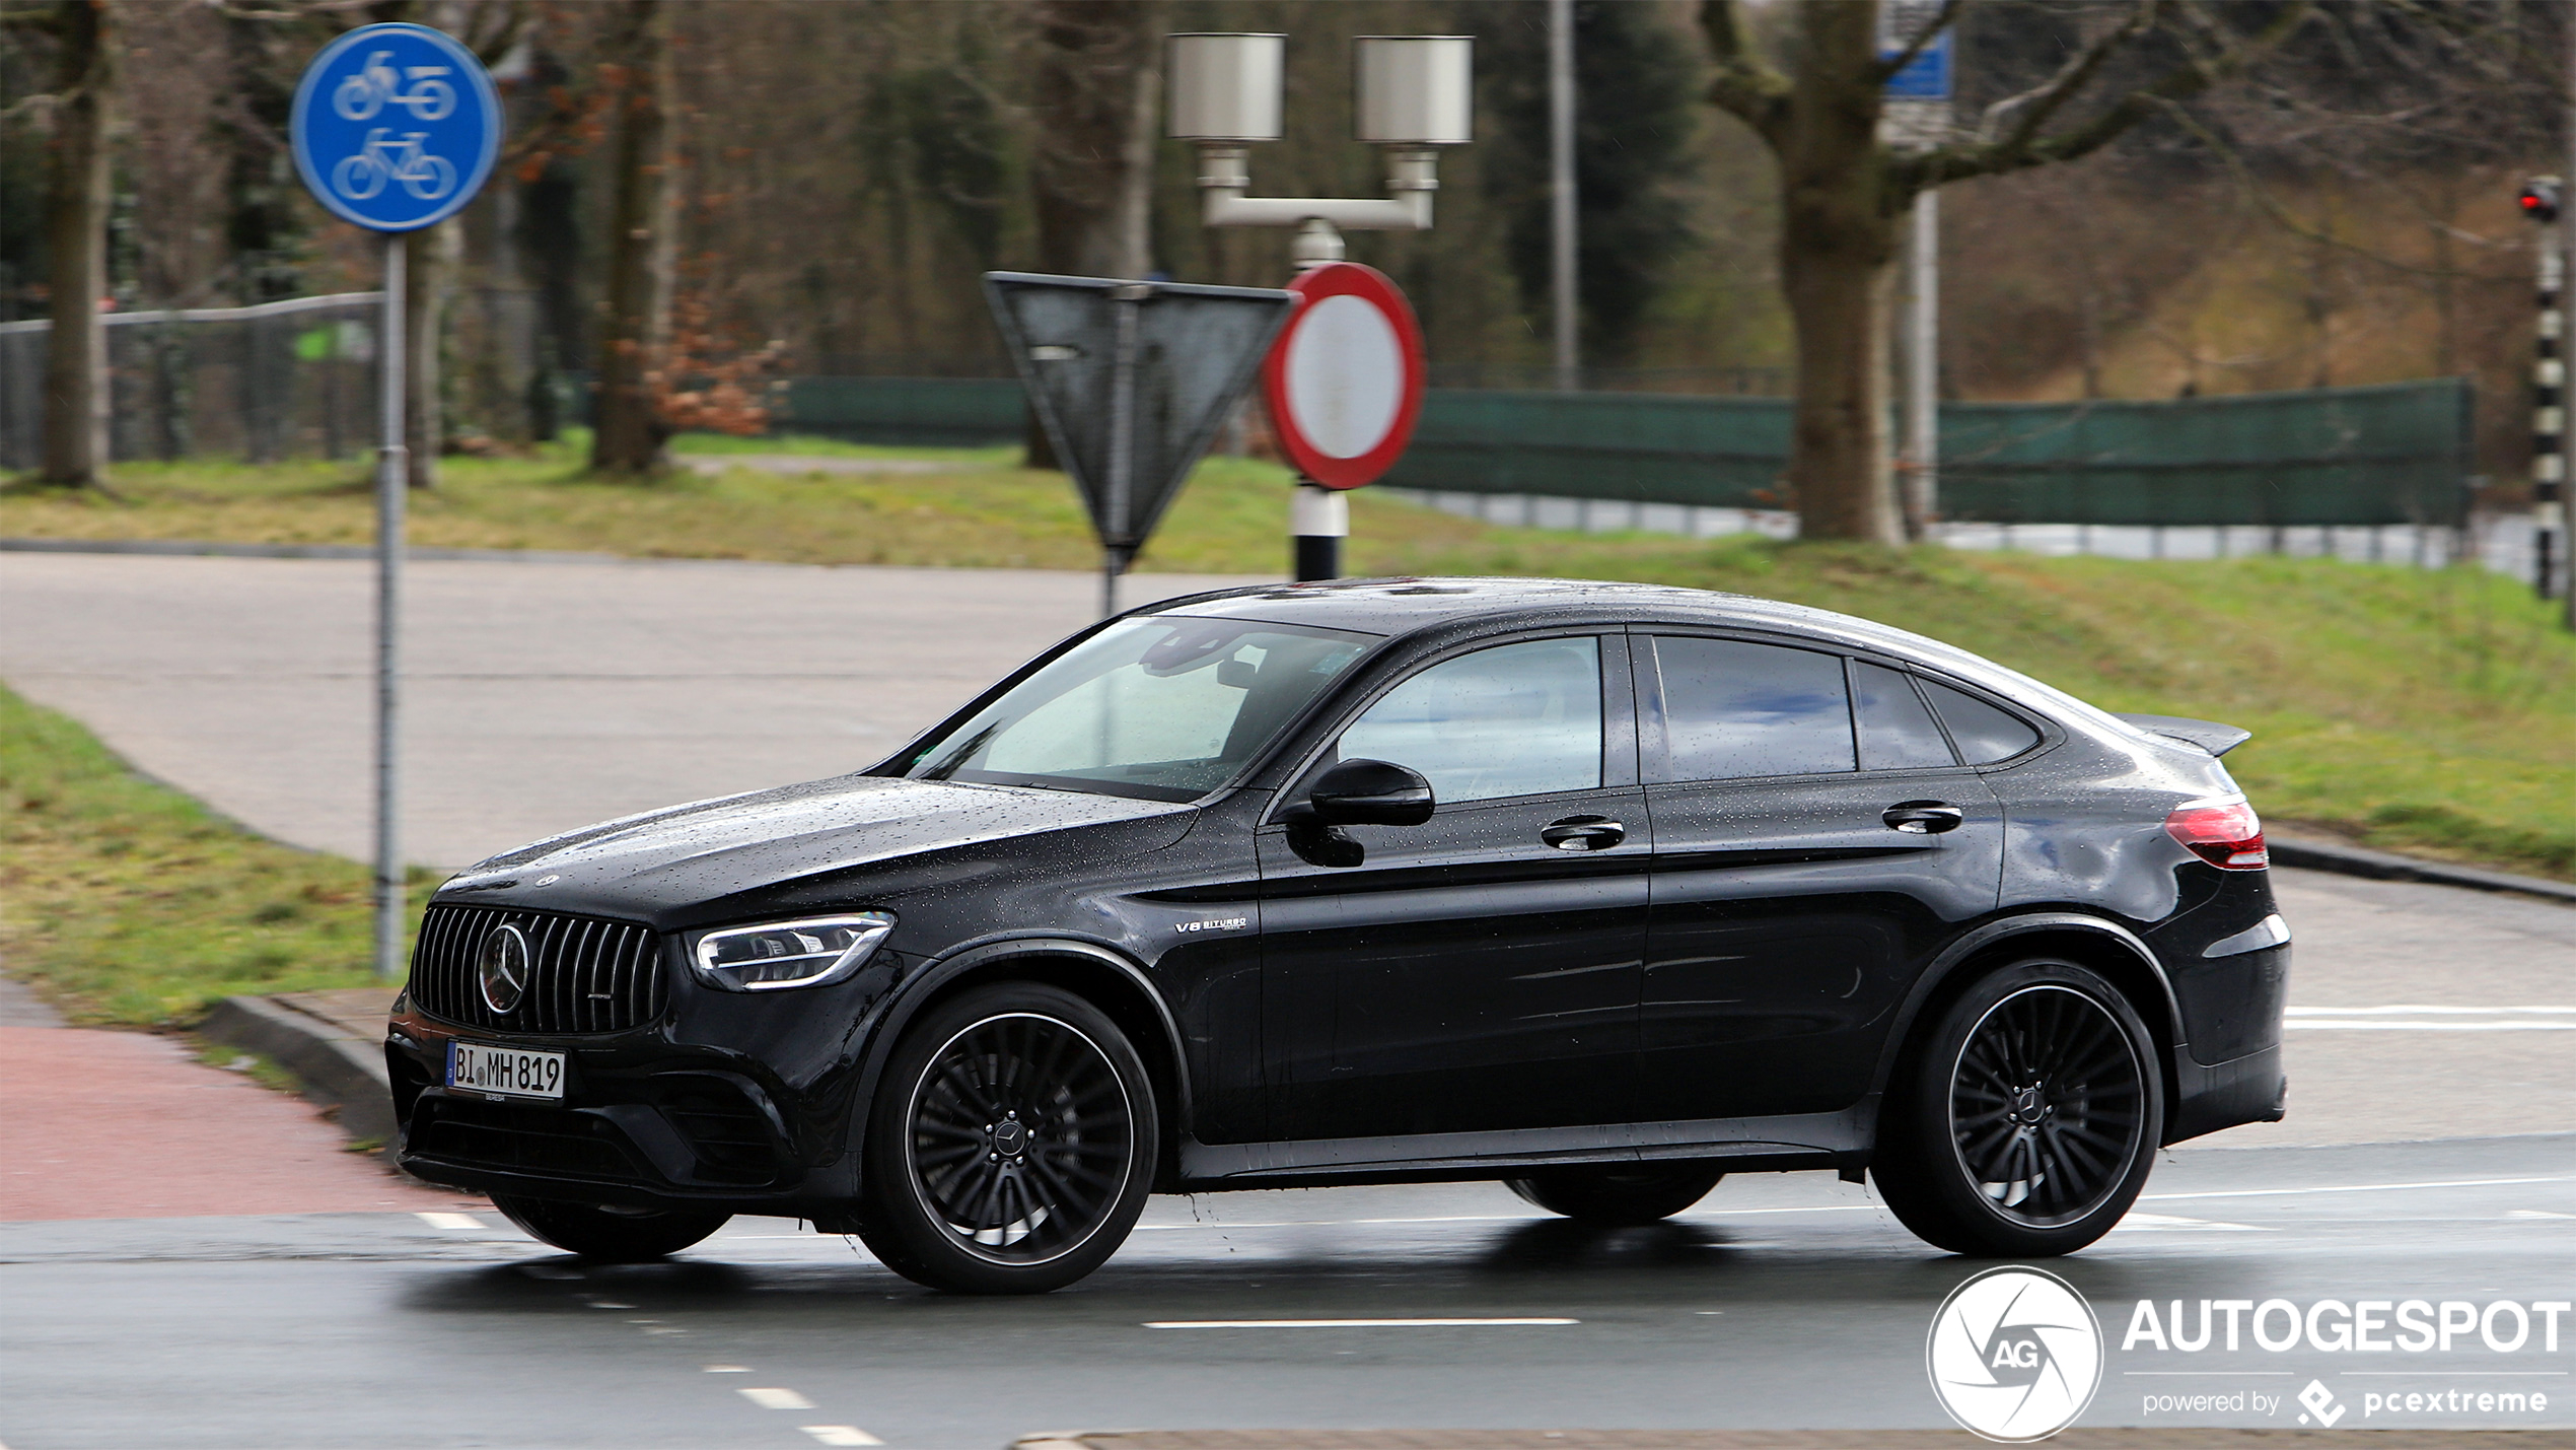
<svg viewBox="0 0 2576 1450">
<path fill-rule="evenodd" d="M 430 886 L 415 871 L 412 919 Z M 255 837 L 0 688 L 0 956 L 75 1022 L 366 986 L 371 943 L 363 865 Z"/>
</svg>

